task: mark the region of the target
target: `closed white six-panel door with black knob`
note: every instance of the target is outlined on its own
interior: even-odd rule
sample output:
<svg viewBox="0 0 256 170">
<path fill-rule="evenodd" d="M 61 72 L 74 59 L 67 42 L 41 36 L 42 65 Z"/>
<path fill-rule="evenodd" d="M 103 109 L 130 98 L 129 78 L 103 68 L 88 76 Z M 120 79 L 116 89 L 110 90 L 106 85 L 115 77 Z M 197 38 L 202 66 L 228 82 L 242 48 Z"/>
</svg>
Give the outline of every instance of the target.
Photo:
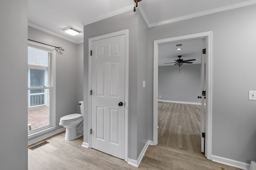
<svg viewBox="0 0 256 170">
<path fill-rule="evenodd" d="M 125 35 L 92 41 L 91 69 L 91 146 L 124 159 Z"/>
</svg>

